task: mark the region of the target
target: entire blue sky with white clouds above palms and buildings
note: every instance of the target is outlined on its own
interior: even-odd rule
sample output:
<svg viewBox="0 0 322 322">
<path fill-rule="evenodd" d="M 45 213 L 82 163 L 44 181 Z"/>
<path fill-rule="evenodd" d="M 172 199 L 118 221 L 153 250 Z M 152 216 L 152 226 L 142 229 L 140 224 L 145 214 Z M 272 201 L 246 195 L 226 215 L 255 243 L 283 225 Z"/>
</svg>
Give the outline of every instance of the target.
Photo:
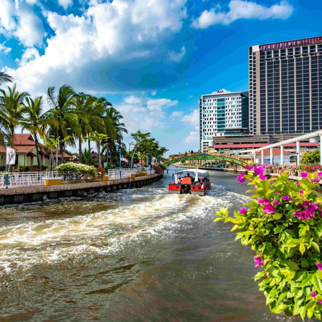
<svg viewBox="0 0 322 322">
<path fill-rule="evenodd" d="M 129 132 L 198 150 L 199 97 L 247 91 L 248 47 L 321 36 L 321 12 L 315 0 L 1 0 L 0 70 L 32 97 L 63 84 L 104 96 Z"/>
</svg>

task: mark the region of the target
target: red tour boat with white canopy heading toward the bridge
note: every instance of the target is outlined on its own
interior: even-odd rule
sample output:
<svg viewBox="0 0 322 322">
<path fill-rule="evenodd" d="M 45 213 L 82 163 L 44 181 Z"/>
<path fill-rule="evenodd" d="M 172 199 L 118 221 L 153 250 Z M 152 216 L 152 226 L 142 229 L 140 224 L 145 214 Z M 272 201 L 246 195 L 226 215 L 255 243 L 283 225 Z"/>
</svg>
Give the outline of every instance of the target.
<svg viewBox="0 0 322 322">
<path fill-rule="evenodd" d="M 192 194 L 204 196 L 210 189 L 209 174 L 207 171 L 197 169 L 186 169 L 172 174 L 172 181 L 169 183 L 170 194 Z"/>
</svg>

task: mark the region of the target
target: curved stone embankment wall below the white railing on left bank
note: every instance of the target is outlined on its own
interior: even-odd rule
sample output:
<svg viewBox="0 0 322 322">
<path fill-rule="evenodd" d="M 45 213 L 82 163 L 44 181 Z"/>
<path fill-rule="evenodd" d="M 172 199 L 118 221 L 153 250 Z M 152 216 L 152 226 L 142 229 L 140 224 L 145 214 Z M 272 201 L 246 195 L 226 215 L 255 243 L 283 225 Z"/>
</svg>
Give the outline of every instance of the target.
<svg viewBox="0 0 322 322">
<path fill-rule="evenodd" d="M 111 181 L 66 184 L 60 186 L 33 186 L 0 189 L 0 206 L 42 201 L 43 197 L 55 199 L 60 197 L 84 197 L 96 192 L 113 192 L 120 189 L 140 188 L 160 180 L 162 174 Z"/>
</svg>

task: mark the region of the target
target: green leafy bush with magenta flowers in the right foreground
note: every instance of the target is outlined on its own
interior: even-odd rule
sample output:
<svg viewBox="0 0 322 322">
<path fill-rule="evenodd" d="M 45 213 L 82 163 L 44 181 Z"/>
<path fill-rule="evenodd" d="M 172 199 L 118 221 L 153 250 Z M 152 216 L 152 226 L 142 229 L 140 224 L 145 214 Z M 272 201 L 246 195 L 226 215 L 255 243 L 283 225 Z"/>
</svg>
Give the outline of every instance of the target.
<svg viewBox="0 0 322 322">
<path fill-rule="evenodd" d="M 321 319 L 322 199 L 313 189 L 322 173 L 305 173 L 295 183 L 285 172 L 270 181 L 263 172 L 255 167 L 255 176 L 239 175 L 238 181 L 254 186 L 253 200 L 234 217 L 221 208 L 215 220 L 232 222 L 236 239 L 256 252 L 254 264 L 261 271 L 254 278 L 261 279 L 259 289 L 272 312 Z"/>
</svg>

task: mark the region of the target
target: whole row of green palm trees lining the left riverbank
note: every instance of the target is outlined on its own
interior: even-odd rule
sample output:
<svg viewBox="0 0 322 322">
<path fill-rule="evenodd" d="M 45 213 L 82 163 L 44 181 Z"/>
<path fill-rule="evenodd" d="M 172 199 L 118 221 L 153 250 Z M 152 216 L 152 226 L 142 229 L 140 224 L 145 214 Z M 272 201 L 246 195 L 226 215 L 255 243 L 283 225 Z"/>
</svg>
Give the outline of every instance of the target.
<svg viewBox="0 0 322 322">
<path fill-rule="evenodd" d="M 13 83 L 13 78 L 0 73 L 0 87 Z M 49 109 L 44 112 L 44 98 L 32 99 L 27 92 L 19 92 L 17 86 L 0 88 L 0 144 L 5 134 L 9 145 L 14 146 L 14 133 L 18 128 L 28 130 L 35 139 L 36 149 L 40 139 L 48 137 L 59 139 L 60 163 L 64 163 L 66 146 L 76 148 L 78 144 L 79 163 L 91 163 L 88 151 L 92 151 L 91 141 L 98 144 L 107 162 L 117 158 L 117 149 L 125 151 L 122 142 L 127 133 L 122 115 L 103 97 L 85 93 L 75 93 L 63 85 L 58 90 L 49 87 L 46 98 Z M 100 137 L 99 141 L 95 138 Z M 68 138 L 67 140 L 65 138 Z M 82 151 L 82 143 L 88 141 L 88 150 Z M 83 154 L 85 153 L 85 154 Z M 38 165 L 39 151 L 37 153 Z M 99 162 L 98 162 L 99 163 Z"/>
</svg>

